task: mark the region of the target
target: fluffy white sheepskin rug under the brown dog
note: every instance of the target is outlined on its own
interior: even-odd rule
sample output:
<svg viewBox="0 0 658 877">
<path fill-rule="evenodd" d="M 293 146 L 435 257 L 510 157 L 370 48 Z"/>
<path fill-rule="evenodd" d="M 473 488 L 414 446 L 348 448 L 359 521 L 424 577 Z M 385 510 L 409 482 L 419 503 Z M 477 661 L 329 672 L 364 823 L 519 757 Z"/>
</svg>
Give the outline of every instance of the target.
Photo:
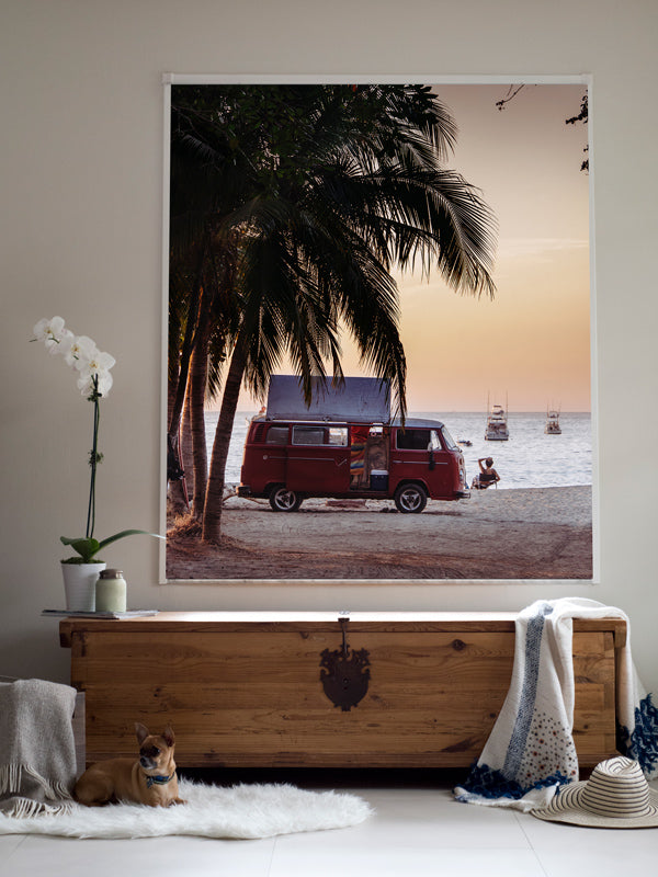
<svg viewBox="0 0 658 877">
<path fill-rule="evenodd" d="M 373 813 L 371 806 L 354 795 L 307 791 L 291 785 L 245 784 L 222 788 L 181 779 L 179 789 L 188 804 L 168 808 L 75 804 L 70 812 L 55 816 L 14 819 L 0 815 L 0 834 L 114 839 L 194 834 L 253 840 L 348 828 Z"/>
</svg>

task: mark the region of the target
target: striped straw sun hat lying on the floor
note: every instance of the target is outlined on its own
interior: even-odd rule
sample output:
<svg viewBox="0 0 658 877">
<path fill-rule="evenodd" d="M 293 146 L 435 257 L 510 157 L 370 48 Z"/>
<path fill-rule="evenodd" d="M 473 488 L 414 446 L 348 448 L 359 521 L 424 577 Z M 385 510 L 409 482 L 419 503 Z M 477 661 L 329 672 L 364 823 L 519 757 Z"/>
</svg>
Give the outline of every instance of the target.
<svg viewBox="0 0 658 877">
<path fill-rule="evenodd" d="M 589 779 L 561 786 L 537 819 L 602 829 L 658 827 L 658 791 L 649 788 L 639 764 L 620 755 L 602 761 Z"/>
</svg>

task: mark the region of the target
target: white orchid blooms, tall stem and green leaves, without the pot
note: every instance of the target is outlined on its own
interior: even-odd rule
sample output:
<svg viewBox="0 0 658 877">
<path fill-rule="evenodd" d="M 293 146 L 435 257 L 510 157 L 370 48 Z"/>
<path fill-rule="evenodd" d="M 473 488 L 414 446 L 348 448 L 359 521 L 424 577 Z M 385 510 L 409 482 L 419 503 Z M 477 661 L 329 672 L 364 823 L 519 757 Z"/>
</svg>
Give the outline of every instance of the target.
<svg viewBox="0 0 658 877">
<path fill-rule="evenodd" d="M 95 476 L 97 466 L 103 459 L 99 452 L 99 423 L 100 406 L 102 398 L 107 396 L 112 387 L 112 375 L 110 369 L 116 363 L 114 356 L 102 353 L 95 343 L 87 335 L 76 335 L 67 329 L 61 317 L 39 320 L 34 327 L 33 341 L 43 341 L 48 353 L 63 356 L 67 365 L 71 366 L 77 374 L 78 388 L 87 399 L 93 405 L 93 445 L 89 452 L 89 465 L 91 467 L 91 483 L 89 487 L 89 504 L 87 509 L 87 531 L 84 537 L 67 538 L 60 536 L 64 545 L 70 545 L 77 557 L 69 557 L 63 563 L 94 563 L 102 562 L 97 557 L 98 553 L 125 536 L 143 534 L 163 538 L 157 533 L 148 533 L 145 529 L 123 529 L 99 542 L 94 538 L 93 531 L 95 524 Z"/>
</svg>

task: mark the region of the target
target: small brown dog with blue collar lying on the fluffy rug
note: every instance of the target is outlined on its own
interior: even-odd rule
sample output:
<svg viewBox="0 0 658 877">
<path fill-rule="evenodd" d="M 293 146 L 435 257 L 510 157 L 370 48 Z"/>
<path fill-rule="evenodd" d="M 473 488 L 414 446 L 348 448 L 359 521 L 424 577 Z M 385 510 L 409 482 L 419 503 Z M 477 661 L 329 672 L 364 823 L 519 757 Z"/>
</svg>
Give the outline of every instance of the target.
<svg viewBox="0 0 658 877">
<path fill-rule="evenodd" d="M 185 804 L 179 798 L 173 730 L 168 725 L 162 734 L 151 734 L 135 722 L 139 759 L 110 759 L 89 767 L 76 783 L 73 797 L 87 807 L 132 801 L 149 807 Z"/>
</svg>

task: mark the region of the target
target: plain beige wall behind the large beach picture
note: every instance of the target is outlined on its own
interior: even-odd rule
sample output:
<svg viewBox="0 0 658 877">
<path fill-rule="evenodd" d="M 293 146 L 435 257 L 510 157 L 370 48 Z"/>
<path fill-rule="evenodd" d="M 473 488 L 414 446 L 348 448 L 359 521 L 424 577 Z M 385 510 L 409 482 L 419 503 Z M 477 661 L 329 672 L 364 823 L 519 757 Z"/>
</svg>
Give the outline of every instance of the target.
<svg viewBox="0 0 658 877">
<path fill-rule="evenodd" d="M 131 602 L 160 608 L 512 608 L 592 596 L 632 618 L 658 683 L 654 0 L 2 0 L 0 672 L 68 677 L 58 537 L 86 504 L 89 410 L 27 343 L 60 314 L 117 358 L 103 405 L 98 532 L 156 528 L 163 71 L 593 76 L 601 584 L 158 585 L 154 542 L 120 543 Z"/>
</svg>

